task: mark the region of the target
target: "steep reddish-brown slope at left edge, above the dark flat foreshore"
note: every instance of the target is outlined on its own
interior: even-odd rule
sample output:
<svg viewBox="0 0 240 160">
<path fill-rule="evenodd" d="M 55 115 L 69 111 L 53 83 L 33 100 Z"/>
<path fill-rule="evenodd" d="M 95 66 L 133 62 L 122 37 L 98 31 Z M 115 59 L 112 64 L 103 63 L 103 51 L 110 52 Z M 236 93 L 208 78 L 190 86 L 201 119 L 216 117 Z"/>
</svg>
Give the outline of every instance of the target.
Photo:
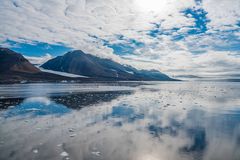
<svg viewBox="0 0 240 160">
<path fill-rule="evenodd" d="M 38 73 L 40 70 L 21 54 L 7 48 L 0 48 L 0 73 L 9 72 Z"/>
</svg>

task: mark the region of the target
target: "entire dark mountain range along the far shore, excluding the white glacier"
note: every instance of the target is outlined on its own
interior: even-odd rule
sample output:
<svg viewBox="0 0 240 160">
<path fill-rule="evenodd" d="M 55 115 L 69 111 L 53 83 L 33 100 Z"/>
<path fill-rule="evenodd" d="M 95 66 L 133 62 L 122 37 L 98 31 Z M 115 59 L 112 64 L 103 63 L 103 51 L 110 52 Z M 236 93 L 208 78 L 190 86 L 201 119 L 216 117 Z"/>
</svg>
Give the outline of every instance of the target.
<svg viewBox="0 0 240 160">
<path fill-rule="evenodd" d="M 156 70 L 137 70 L 110 59 L 102 59 L 80 50 L 68 52 L 44 63 L 42 68 L 72 73 L 83 77 L 67 77 L 41 71 L 21 54 L 7 48 L 0 48 L 0 83 L 22 81 L 172 81 L 167 75 Z"/>
</svg>

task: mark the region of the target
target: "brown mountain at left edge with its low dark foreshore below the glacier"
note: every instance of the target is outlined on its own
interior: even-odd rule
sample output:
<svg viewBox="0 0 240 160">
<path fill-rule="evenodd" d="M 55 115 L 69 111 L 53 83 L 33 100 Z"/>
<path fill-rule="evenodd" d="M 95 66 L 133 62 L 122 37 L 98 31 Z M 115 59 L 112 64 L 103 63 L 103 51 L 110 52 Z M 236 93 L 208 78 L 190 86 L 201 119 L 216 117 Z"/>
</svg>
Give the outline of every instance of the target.
<svg viewBox="0 0 240 160">
<path fill-rule="evenodd" d="M 42 72 L 21 54 L 7 48 L 0 48 L 0 83 L 56 82 L 62 80 L 85 80 Z M 90 80 L 90 79 L 88 79 Z"/>
</svg>

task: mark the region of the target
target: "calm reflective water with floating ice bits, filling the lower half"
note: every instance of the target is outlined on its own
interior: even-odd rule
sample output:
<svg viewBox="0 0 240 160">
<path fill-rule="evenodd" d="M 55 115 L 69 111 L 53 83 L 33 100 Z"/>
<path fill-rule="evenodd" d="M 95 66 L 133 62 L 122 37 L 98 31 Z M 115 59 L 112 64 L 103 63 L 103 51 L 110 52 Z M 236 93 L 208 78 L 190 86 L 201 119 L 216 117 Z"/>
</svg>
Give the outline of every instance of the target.
<svg viewBox="0 0 240 160">
<path fill-rule="evenodd" d="M 0 159 L 240 160 L 240 83 L 0 86 Z"/>
</svg>

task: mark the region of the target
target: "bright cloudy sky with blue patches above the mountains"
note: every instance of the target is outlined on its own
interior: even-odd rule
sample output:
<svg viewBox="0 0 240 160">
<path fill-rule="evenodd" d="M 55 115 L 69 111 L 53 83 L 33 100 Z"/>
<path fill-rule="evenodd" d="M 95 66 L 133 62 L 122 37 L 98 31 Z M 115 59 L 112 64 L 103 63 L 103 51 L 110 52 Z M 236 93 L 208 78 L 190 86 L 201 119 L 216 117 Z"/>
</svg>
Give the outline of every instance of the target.
<svg viewBox="0 0 240 160">
<path fill-rule="evenodd" d="M 240 78 L 240 0 L 1 0 L 0 45 L 34 63 L 80 49 L 170 76 Z"/>
</svg>

